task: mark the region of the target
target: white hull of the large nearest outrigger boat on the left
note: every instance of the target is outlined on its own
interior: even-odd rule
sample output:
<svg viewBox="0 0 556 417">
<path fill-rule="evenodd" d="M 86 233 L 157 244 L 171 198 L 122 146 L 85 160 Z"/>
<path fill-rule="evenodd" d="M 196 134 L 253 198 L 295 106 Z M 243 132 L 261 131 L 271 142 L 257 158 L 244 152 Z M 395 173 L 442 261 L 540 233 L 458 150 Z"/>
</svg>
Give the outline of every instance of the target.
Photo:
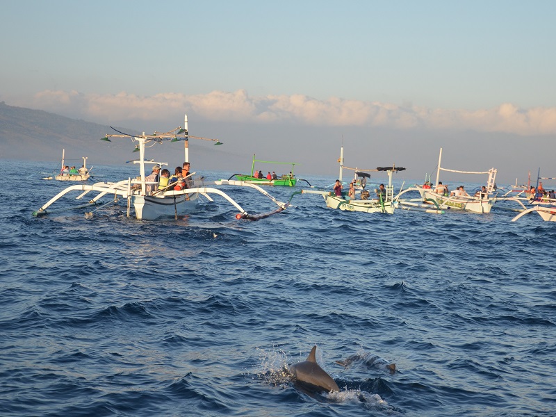
<svg viewBox="0 0 556 417">
<path fill-rule="evenodd" d="M 199 193 L 171 197 L 134 195 L 132 198 L 138 220 L 157 220 L 193 213 L 197 208 Z"/>
</svg>

